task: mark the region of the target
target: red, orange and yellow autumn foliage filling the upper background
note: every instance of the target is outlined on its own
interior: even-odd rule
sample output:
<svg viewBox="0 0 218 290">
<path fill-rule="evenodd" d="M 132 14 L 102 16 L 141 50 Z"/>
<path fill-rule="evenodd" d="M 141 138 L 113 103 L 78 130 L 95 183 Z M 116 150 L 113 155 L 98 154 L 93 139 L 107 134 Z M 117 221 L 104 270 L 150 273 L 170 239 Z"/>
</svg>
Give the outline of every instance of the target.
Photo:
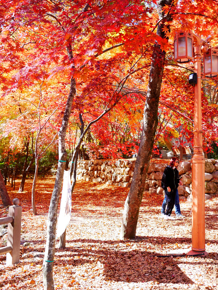
<svg viewBox="0 0 218 290">
<path fill-rule="evenodd" d="M 85 1 L 75 7 L 68 2 L 27 3 L 11 1 L 9 8 L 2 2 L 1 8 L 1 169 L 16 163 L 27 167 L 37 158 L 40 166 L 57 162 L 57 132 L 72 75 L 76 96 L 66 135 L 68 153 L 75 149 L 81 129 L 115 102 L 88 129 L 81 157 L 132 157 L 140 143 L 152 48 L 158 41 L 156 2 L 110 1 L 107 7 L 102 2 L 96 11 L 83 13 Z M 217 2 L 208 1 L 206 7 L 193 3 L 177 6 L 169 42 L 161 40 L 167 53 L 154 149 L 167 149 L 164 138 L 178 138 L 183 145 L 185 137 L 192 143 L 193 87 L 187 80 L 193 63 L 174 63 L 173 36 L 189 20 L 195 33 L 217 40 Z M 69 44 L 73 58 L 68 57 Z M 202 88 L 204 150 L 216 157 L 217 79 L 203 78 Z"/>
</svg>

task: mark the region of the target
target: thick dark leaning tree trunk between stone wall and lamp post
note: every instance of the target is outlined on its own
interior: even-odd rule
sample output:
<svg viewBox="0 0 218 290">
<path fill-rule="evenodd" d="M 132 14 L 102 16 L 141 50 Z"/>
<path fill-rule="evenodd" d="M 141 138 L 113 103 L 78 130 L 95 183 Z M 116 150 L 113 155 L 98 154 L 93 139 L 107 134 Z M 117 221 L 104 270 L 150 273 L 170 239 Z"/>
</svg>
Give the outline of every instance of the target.
<svg viewBox="0 0 218 290">
<path fill-rule="evenodd" d="M 162 11 L 164 5 L 170 5 L 171 3 L 172 0 L 158 1 L 160 18 L 164 16 L 164 12 Z M 157 35 L 159 37 L 167 39 L 162 29 L 164 27 L 163 22 L 169 21 L 170 18 L 171 17 L 169 15 L 159 23 L 157 28 Z M 124 206 L 120 233 L 121 239 L 135 238 L 139 209 L 145 189 L 146 174 L 154 145 L 155 132 L 158 125 L 158 104 L 164 70 L 165 54 L 165 51 L 162 52 L 160 45 L 155 43 L 153 47 L 148 91 L 144 108 L 142 135 L 139 152 L 135 162 L 133 180 Z"/>
</svg>

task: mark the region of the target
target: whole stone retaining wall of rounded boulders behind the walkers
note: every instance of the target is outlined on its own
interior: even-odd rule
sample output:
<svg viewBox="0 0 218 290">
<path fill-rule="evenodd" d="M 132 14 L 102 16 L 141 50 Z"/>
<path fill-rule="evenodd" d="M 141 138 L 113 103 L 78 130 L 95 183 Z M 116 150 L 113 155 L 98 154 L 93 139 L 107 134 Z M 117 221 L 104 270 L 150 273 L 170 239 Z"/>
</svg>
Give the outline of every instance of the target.
<svg viewBox="0 0 218 290">
<path fill-rule="evenodd" d="M 161 179 L 165 167 L 169 164 L 155 163 L 149 164 L 145 191 L 150 194 L 163 194 L 161 188 Z M 119 159 L 111 160 L 95 160 L 95 161 L 78 161 L 77 180 L 85 180 L 97 182 L 107 185 L 115 185 L 121 187 L 130 187 L 133 172 L 135 168 L 135 160 Z M 180 199 L 191 199 L 192 193 L 192 169 L 190 161 L 182 161 L 178 166 L 180 177 L 182 177 L 183 186 L 178 187 Z M 218 194 L 218 162 L 214 159 L 205 161 L 205 198 Z M 190 195 L 190 196 L 189 196 Z M 189 198 L 188 198 L 189 196 Z"/>
</svg>

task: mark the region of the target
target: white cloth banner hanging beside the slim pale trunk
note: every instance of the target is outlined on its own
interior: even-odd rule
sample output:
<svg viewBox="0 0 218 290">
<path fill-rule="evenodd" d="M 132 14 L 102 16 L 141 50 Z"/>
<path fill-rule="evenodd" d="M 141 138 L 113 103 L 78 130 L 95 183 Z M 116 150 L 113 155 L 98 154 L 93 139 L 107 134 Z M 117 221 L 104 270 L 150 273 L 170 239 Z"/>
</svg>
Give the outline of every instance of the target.
<svg viewBox="0 0 218 290">
<path fill-rule="evenodd" d="M 71 208 L 72 208 L 72 201 L 71 201 L 71 180 L 70 180 L 70 170 L 64 170 L 64 181 L 63 181 L 63 188 L 62 188 L 62 195 L 61 195 L 61 202 L 60 202 L 60 213 L 58 217 L 58 226 L 57 226 L 57 235 L 58 238 L 61 236 L 67 225 L 69 224 L 70 217 L 71 217 Z"/>
</svg>

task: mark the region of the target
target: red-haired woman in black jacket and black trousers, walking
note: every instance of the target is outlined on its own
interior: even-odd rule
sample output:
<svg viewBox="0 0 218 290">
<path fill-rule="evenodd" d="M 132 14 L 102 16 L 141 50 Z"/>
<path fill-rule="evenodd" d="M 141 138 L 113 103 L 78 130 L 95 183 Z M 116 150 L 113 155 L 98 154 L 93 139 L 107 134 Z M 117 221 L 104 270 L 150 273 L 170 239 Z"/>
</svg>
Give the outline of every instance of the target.
<svg viewBox="0 0 218 290">
<path fill-rule="evenodd" d="M 177 170 L 178 163 L 178 159 L 173 157 L 170 160 L 169 165 L 164 169 L 161 187 L 164 189 L 165 198 L 167 199 L 168 203 L 164 219 L 174 219 L 170 215 L 174 207 L 176 191 L 178 190 L 177 188 L 179 184 L 183 185 L 182 181 L 179 180 L 179 172 Z"/>
</svg>

